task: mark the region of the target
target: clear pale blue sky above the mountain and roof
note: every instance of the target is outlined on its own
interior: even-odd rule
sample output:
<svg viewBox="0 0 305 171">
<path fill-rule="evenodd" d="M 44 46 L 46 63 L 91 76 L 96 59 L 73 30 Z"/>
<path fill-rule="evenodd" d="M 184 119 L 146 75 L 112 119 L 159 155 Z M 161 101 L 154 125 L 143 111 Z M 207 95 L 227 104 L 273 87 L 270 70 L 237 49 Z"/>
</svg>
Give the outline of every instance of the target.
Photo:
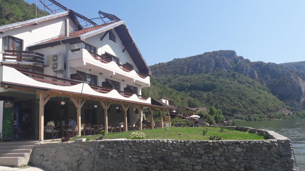
<svg viewBox="0 0 305 171">
<path fill-rule="evenodd" d="M 305 61 L 302 0 L 57 1 L 88 18 L 101 10 L 124 19 L 148 65 L 217 50 L 250 61 Z"/>
</svg>

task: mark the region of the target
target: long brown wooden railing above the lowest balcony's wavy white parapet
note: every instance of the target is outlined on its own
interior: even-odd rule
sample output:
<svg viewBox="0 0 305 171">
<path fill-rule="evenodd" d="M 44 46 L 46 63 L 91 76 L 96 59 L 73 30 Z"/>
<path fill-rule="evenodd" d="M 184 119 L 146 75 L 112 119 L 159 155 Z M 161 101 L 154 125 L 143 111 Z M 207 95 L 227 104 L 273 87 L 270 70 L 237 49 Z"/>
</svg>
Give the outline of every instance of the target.
<svg viewBox="0 0 305 171">
<path fill-rule="evenodd" d="M 50 75 L 45 75 L 45 74 L 32 72 L 32 71 L 27 71 L 27 70 L 23 70 L 23 69 L 19 69 L 19 68 L 15 68 L 15 69 L 18 70 L 19 72 L 23 73 L 24 75 L 27 75 L 28 77 L 34 79 L 34 80 L 49 83 L 49 84 L 53 84 L 53 85 L 71 86 L 71 85 L 76 85 L 76 84 L 83 83 L 82 81 L 71 80 L 71 79 L 63 79 L 63 78 L 54 77 L 54 76 L 50 76 Z M 92 84 L 88 84 L 88 85 L 92 89 L 94 89 L 95 91 L 101 92 L 101 93 L 108 93 L 111 90 L 113 90 L 113 89 L 98 86 L 98 85 L 92 85 Z M 124 91 L 120 91 L 120 90 L 117 90 L 117 92 L 119 92 L 119 94 L 123 97 L 130 97 L 130 96 L 134 95 L 133 93 L 124 92 Z M 136 94 L 136 95 L 141 100 L 148 99 L 148 97 L 146 97 L 146 96 L 142 96 L 142 95 L 138 95 L 138 94 Z"/>
</svg>

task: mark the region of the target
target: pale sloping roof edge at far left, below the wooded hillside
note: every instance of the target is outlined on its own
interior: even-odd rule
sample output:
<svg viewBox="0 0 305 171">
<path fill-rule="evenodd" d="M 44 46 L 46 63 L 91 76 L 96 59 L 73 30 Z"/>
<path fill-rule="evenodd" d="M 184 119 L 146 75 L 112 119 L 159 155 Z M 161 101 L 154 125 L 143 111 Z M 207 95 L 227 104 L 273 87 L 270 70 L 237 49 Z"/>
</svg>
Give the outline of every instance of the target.
<svg viewBox="0 0 305 171">
<path fill-rule="evenodd" d="M 62 17 L 62 16 L 67 16 L 67 15 L 69 15 L 69 13 L 67 11 L 65 11 L 65 12 L 60 12 L 60 13 L 57 13 L 57 14 L 52 14 L 52 15 L 48 15 L 48 16 L 39 17 L 39 18 L 36 18 L 36 19 L 30 19 L 30 20 L 27 20 L 27 21 L 21 21 L 21 22 L 18 22 L 18 23 L 13 23 L 13 24 L 5 25 L 5 26 L 0 26 L 0 32 L 6 31 L 6 30 L 11 30 L 11 29 L 14 29 L 14 28 L 22 27 L 22 26 L 27 26 L 27 25 L 30 25 L 30 24 L 39 23 L 39 22 L 42 22 L 42 21 L 47 21 L 47 20 Z"/>
</svg>

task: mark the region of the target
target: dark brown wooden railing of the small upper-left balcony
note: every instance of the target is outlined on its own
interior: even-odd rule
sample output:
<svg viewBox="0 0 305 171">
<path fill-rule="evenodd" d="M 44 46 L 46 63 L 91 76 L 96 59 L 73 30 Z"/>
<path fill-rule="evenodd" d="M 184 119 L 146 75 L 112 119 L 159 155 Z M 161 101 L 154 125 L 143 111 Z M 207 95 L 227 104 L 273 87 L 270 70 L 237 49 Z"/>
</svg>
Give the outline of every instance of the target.
<svg viewBox="0 0 305 171">
<path fill-rule="evenodd" d="M 27 61 L 27 62 L 37 62 L 39 64 L 44 64 L 44 55 L 32 52 L 32 51 L 13 51 L 4 50 L 5 54 L 2 54 L 2 60 L 13 60 L 13 61 Z M 9 56 L 9 57 L 7 57 Z"/>
</svg>

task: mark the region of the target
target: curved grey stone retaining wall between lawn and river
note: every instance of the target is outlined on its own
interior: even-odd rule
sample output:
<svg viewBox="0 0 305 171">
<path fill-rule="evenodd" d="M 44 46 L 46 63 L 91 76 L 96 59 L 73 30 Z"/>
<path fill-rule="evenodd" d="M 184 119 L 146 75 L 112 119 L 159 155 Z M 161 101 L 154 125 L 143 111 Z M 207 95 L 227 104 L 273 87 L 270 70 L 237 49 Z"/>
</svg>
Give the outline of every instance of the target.
<svg viewBox="0 0 305 171">
<path fill-rule="evenodd" d="M 248 131 L 248 127 L 236 127 Z M 289 139 L 273 131 L 269 140 L 102 140 L 86 142 L 41 142 L 35 145 L 31 162 L 50 171 L 95 170 L 208 170 L 292 171 Z"/>
</svg>

